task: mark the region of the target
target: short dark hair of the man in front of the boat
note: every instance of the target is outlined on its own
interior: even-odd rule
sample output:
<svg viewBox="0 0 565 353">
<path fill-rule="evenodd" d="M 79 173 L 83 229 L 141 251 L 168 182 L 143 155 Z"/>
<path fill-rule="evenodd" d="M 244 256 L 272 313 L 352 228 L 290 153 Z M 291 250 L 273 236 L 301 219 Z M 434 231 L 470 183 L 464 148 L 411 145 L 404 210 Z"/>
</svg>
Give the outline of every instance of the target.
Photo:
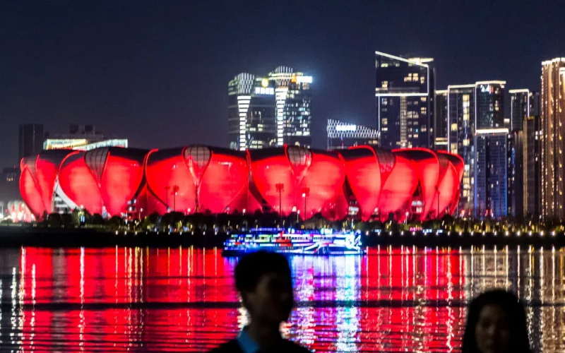
<svg viewBox="0 0 565 353">
<path fill-rule="evenodd" d="M 252 292 L 261 276 L 278 273 L 290 277 L 290 266 L 280 253 L 256 251 L 243 256 L 235 266 L 235 287 L 238 292 Z"/>
</svg>

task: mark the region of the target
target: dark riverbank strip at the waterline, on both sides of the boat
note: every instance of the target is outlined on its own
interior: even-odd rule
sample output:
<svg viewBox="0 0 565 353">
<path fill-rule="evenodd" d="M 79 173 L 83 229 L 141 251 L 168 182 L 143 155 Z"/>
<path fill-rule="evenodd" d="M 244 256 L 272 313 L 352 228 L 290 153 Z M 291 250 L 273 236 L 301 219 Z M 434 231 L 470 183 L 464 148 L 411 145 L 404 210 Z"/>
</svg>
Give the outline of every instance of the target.
<svg viewBox="0 0 565 353">
<path fill-rule="evenodd" d="M 102 229 L 71 228 L 50 229 L 43 227 L 0 227 L 0 248 L 20 246 L 40 247 L 92 247 L 148 246 L 167 248 L 176 246 L 222 247 L 225 233 L 215 232 L 109 232 Z M 486 246 L 565 246 L 565 234 L 542 233 L 428 233 L 398 232 L 362 234 L 363 246 L 417 246 L 417 247 L 464 247 Z"/>
</svg>

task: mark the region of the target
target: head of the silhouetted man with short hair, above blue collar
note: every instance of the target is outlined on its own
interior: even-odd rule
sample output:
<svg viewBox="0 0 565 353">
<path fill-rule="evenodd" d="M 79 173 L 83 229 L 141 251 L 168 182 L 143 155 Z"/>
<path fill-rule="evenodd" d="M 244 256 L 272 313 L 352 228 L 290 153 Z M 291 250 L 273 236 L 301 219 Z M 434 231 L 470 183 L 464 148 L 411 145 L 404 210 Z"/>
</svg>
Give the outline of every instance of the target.
<svg viewBox="0 0 565 353">
<path fill-rule="evenodd" d="M 276 326 L 287 321 L 294 295 L 287 259 L 279 253 L 257 251 L 239 260 L 235 287 L 252 323 Z"/>
</svg>

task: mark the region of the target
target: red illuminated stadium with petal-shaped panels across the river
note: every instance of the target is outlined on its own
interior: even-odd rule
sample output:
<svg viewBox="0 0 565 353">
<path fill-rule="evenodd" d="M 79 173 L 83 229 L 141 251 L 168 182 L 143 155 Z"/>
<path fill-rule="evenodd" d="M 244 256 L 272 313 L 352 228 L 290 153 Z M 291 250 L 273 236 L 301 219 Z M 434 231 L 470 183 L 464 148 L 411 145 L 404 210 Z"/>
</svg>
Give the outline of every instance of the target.
<svg viewBox="0 0 565 353">
<path fill-rule="evenodd" d="M 303 219 L 428 220 L 455 211 L 463 177 L 458 155 L 373 146 L 47 150 L 20 167 L 20 192 L 36 217 L 57 212 L 57 203 L 105 217 L 270 210 Z"/>
</svg>

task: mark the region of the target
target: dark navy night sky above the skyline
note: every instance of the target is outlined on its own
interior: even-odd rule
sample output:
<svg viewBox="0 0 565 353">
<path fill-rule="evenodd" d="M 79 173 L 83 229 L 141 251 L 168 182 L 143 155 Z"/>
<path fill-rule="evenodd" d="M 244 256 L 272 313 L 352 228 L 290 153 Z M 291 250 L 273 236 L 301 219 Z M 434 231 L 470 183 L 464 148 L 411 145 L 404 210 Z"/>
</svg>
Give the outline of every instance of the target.
<svg viewBox="0 0 565 353">
<path fill-rule="evenodd" d="M 539 89 L 541 61 L 565 56 L 565 2 L 1 1 L 0 167 L 21 123 L 227 146 L 228 81 L 279 65 L 314 76 L 323 148 L 328 118 L 376 125 L 375 50 L 433 57 L 438 89 Z"/>
</svg>

